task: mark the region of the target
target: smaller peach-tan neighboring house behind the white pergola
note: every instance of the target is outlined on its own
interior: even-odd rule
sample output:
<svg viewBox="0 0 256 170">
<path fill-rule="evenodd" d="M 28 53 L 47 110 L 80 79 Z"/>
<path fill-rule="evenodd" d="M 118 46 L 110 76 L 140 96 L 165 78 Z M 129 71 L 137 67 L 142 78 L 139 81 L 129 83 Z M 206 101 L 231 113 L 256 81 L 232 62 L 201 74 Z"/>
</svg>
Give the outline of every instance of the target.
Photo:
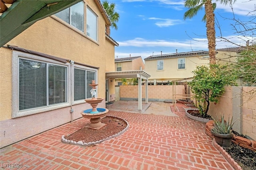
<svg viewBox="0 0 256 170">
<path fill-rule="evenodd" d="M 115 71 L 144 70 L 145 65 L 140 56 L 115 59 Z M 121 79 L 116 79 L 116 85 L 122 85 Z"/>
</svg>

